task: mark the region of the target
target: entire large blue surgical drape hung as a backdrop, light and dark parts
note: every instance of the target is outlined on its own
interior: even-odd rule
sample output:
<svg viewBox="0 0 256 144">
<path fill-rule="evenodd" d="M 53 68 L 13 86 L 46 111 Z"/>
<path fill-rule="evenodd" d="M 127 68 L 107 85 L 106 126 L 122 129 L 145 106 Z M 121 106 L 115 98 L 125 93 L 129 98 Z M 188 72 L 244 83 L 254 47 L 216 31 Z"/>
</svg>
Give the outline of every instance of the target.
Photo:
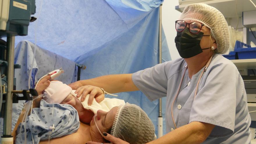
<svg viewBox="0 0 256 144">
<path fill-rule="evenodd" d="M 36 21 L 30 23 L 29 35 L 16 37 L 16 44 L 25 39 L 34 42 L 36 33 L 37 45 L 87 67 L 81 70 L 81 79 L 133 73 L 158 63 L 158 6 L 162 1 L 44 0 L 38 17 L 41 0 L 37 0 L 37 30 Z M 162 49 L 163 62 L 171 60 L 164 32 Z M 141 92 L 119 95 L 141 106 L 157 133 L 158 101 L 150 102 Z M 163 99 L 163 116 L 164 107 Z"/>
</svg>

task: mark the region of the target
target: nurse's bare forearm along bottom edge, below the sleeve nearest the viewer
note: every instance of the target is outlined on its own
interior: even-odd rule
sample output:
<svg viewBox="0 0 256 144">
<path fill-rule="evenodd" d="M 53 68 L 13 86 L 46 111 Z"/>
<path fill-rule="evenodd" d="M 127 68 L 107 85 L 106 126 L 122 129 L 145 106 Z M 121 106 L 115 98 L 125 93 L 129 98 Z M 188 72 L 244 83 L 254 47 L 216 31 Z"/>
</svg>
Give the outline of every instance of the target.
<svg viewBox="0 0 256 144">
<path fill-rule="evenodd" d="M 198 144 L 206 140 L 211 134 L 215 125 L 204 122 L 191 122 L 179 127 L 168 134 L 158 138 L 148 144 Z"/>
</svg>

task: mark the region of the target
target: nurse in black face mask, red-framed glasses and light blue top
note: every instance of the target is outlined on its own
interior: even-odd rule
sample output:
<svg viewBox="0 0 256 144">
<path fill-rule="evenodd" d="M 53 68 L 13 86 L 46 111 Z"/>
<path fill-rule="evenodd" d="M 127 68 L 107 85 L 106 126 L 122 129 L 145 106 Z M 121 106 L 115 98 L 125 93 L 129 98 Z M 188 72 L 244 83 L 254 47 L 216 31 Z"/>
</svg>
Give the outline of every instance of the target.
<svg viewBox="0 0 256 144">
<path fill-rule="evenodd" d="M 78 96 L 90 93 L 90 99 L 95 96 L 97 101 L 104 95 L 94 86 L 109 93 L 141 90 L 151 101 L 167 97 L 168 133 L 150 143 L 250 143 L 243 79 L 236 66 L 220 55 L 230 44 L 224 16 L 207 4 L 191 4 L 175 21 L 175 28 L 182 58 L 134 74 L 102 76 L 70 86 Z M 110 134 L 105 138 L 126 143 Z"/>
</svg>

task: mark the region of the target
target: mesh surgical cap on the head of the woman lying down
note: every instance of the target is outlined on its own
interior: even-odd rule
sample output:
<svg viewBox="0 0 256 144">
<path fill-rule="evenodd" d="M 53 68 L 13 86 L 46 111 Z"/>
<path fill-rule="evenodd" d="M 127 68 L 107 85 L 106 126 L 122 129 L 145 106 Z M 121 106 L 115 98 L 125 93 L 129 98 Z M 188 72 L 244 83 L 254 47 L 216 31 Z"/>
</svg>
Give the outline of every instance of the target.
<svg viewBox="0 0 256 144">
<path fill-rule="evenodd" d="M 115 114 L 111 135 L 132 144 L 154 140 L 155 129 L 147 114 L 135 104 L 120 105 Z"/>
</svg>

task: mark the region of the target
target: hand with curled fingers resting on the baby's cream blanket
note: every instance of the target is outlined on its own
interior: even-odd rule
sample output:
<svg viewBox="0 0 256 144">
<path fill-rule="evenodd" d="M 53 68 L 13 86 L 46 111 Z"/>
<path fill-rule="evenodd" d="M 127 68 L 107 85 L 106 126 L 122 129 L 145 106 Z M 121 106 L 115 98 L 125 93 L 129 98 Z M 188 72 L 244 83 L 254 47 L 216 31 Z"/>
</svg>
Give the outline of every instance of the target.
<svg viewBox="0 0 256 144">
<path fill-rule="evenodd" d="M 86 95 L 90 94 L 89 99 L 88 99 L 88 105 L 90 106 L 93 103 L 93 98 L 95 98 L 96 102 L 101 102 L 105 95 L 104 92 L 101 88 L 97 86 L 81 86 L 77 88 L 75 91 L 77 94 L 77 97 L 81 97 L 81 102 L 85 100 Z"/>
</svg>

